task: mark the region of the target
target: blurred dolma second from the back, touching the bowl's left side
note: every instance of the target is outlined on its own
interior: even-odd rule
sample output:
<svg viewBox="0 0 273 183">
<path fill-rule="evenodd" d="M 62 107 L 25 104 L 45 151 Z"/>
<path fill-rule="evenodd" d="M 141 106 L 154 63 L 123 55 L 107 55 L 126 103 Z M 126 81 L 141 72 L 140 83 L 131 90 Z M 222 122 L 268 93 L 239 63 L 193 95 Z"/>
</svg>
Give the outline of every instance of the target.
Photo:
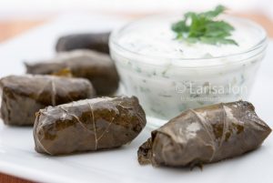
<svg viewBox="0 0 273 183">
<path fill-rule="evenodd" d="M 67 52 L 54 59 L 25 66 L 26 73 L 36 75 L 50 75 L 68 68 L 72 76 L 88 79 L 99 96 L 112 95 L 119 83 L 116 66 L 110 56 L 89 50 Z"/>
</svg>

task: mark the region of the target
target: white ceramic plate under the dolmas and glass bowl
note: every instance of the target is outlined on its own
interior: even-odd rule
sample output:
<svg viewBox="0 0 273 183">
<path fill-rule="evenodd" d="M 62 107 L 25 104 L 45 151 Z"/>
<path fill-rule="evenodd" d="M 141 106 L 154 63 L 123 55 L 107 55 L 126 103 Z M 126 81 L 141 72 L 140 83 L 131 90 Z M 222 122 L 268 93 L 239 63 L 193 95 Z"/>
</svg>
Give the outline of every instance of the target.
<svg viewBox="0 0 273 183">
<path fill-rule="evenodd" d="M 35 60 L 55 54 L 56 37 L 77 31 L 101 31 L 121 25 L 124 19 L 103 15 L 66 15 L 0 45 L 0 76 L 25 72 L 23 60 Z M 273 42 L 258 73 L 251 101 L 260 117 L 273 127 Z M 153 120 L 148 118 L 148 120 Z M 141 167 L 137 148 L 147 139 L 145 129 L 131 144 L 108 151 L 66 157 L 48 157 L 35 153 L 32 127 L 6 127 L 0 121 L 0 171 L 39 182 L 64 183 L 219 183 L 272 182 L 273 135 L 262 147 L 240 158 L 195 168 Z"/>
</svg>

